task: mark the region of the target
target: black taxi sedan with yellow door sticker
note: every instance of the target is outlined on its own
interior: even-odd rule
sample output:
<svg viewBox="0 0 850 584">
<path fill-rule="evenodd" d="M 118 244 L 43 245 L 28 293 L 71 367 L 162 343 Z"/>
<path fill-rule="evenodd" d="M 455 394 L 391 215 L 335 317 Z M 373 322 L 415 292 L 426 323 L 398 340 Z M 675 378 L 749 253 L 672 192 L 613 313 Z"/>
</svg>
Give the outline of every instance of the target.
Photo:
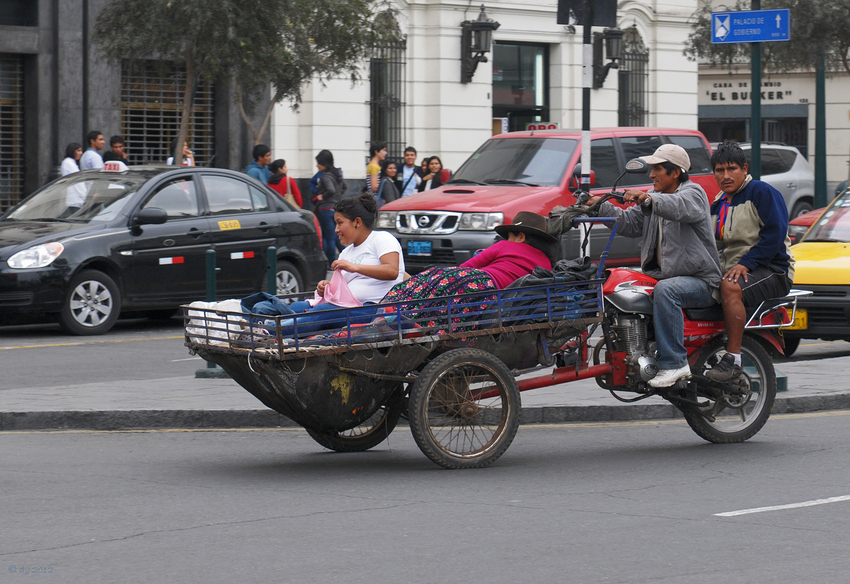
<svg viewBox="0 0 850 584">
<path fill-rule="evenodd" d="M 80 335 L 119 314 L 163 314 L 207 298 L 267 289 L 276 248 L 277 293 L 325 275 L 318 225 L 254 179 L 229 170 L 109 163 L 33 193 L 0 218 L 0 322 L 46 314 Z"/>
</svg>

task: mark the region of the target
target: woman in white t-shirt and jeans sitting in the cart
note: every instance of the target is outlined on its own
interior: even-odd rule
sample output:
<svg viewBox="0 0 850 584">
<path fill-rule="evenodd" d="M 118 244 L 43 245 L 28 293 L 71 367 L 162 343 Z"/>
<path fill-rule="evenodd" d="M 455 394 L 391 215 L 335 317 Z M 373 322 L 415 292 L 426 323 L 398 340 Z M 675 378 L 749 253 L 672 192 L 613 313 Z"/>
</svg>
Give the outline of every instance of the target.
<svg viewBox="0 0 850 584">
<path fill-rule="evenodd" d="M 404 256 L 398 240 L 386 231 L 372 230 L 377 212 L 377 202 L 369 193 L 342 199 L 334 205 L 335 232 L 346 247 L 331 264 L 331 269 L 340 270 L 351 295 L 363 304 L 349 310 L 352 324 L 369 322 L 378 309 L 377 303 L 390 288 L 404 280 Z M 325 287 L 329 285 L 328 280 L 322 280 L 316 291 L 324 296 Z M 323 314 L 341 308 L 329 302 L 312 307 L 306 301 L 293 302 L 290 308 L 296 313 L 307 313 L 298 317 L 299 334 L 339 328 L 344 324 L 340 319 L 346 318 L 340 313 Z M 287 330 L 292 325 L 293 321 L 281 323 Z"/>
</svg>

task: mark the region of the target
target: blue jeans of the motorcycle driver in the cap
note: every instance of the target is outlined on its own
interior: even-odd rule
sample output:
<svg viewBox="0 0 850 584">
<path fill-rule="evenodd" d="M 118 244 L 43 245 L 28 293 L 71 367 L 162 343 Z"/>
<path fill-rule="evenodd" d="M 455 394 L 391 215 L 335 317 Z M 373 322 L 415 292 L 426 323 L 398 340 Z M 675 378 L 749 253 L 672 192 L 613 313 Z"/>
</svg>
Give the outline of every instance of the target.
<svg viewBox="0 0 850 584">
<path fill-rule="evenodd" d="M 706 308 L 715 303 L 712 288 L 693 276 L 666 278 L 652 292 L 658 367 L 679 369 L 688 364 L 683 308 Z"/>
</svg>

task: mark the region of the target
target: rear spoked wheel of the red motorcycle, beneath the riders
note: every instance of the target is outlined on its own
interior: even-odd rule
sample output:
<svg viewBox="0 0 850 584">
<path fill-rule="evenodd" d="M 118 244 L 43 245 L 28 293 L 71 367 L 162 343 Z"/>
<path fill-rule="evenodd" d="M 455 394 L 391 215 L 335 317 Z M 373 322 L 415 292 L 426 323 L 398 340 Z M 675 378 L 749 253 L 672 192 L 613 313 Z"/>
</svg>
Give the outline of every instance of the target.
<svg viewBox="0 0 850 584">
<path fill-rule="evenodd" d="M 724 340 L 715 339 L 703 350 L 693 370 L 705 374 L 720 362 L 724 354 Z M 744 336 L 741 359 L 744 367 L 743 391 L 741 394 L 724 394 L 723 397 L 709 399 L 709 405 L 703 411 L 712 414 L 713 422 L 691 408 L 682 409 L 693 431 L 709 442 L 743 442 L 755 436 L 770 417 L 776 399 L 776 371 L 770 356 L 758 341 Z M 699 397 L 700 401 L 704 401 L 704 398 Z"/>
</svg>

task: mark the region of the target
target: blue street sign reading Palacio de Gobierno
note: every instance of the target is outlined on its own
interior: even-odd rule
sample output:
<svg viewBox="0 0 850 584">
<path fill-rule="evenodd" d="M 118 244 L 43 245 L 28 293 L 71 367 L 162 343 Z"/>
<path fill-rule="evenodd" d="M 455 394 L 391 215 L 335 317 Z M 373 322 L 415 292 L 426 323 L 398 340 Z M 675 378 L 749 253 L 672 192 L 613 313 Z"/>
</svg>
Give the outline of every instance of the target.
<svg viewBox="0 0 850 584">
<path fill-rule="evenodd" d="M 711 42 L 767 43 L 791 38 L 789 11 L 739 10 L 711 13 Z"/>
</svg>

